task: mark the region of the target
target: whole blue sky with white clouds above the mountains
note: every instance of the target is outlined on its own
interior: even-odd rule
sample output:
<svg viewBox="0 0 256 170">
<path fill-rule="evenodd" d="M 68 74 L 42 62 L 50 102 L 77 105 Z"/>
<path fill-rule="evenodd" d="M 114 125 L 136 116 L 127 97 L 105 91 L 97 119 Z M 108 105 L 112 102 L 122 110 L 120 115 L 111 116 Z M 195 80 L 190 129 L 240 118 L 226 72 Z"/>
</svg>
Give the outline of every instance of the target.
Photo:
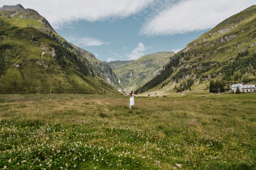
<svg viewBox="0 0 256 170">
<path fill-rule="evenodd" d="M 59 35 L 100 60 L 178 52 L 256 0 L 0 0 L 37 10 Z"/>
</svg>

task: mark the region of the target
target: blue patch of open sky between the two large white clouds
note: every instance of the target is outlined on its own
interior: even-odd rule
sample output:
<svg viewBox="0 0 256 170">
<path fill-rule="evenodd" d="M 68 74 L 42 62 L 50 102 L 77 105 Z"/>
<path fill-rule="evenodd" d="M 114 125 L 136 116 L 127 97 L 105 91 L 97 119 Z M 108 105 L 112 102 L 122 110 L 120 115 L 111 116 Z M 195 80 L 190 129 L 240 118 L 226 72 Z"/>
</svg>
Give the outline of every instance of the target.
<svg viewBox="0 0 256 170">
<path fill-rule="evenodd" d="M 134 60 L 154 52 L 177 52 L 207 31 L 148 36 L 139 34 L 142 23 L 143 16 L 140 18 L 130 16 L 126 19 L 110 19 L 93 23 L 78 21 L 71 27 L 56 29 L 56 31 L 66 40 L 92 52 L 98 59 L 106 61 Z M 90 39 L 83 39 L 83 37 Z M 99 42 L 93 44 L 92 39 L 98 39 Z M 143 48 L 139 48 L 139 44 L 140 46 L 143 44 Z M 138 49 L 138 52 L 132 53 L 135 49 Z"/>
</svg>

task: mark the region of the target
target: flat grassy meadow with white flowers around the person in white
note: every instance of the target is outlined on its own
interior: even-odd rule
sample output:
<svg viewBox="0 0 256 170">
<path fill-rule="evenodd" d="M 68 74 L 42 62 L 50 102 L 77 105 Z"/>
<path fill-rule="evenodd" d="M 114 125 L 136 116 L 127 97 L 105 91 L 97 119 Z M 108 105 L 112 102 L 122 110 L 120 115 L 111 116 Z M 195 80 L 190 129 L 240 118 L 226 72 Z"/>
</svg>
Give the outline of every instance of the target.
<svg viewBox="0 0 256 170">
<path fill-rule="evenodd" d="M 256 94 L 0 95 L 0 168 L 255 169 Z"/>
</svg>

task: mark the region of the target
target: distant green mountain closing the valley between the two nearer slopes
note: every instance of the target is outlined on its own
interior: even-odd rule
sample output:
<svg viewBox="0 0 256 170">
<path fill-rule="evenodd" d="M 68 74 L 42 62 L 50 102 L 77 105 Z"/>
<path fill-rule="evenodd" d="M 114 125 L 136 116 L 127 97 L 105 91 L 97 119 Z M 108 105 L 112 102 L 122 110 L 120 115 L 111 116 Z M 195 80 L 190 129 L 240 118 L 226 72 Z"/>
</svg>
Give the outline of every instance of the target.
<svg viewBox="0 0 256 170">
<path fill-rule="evenodd" d="M 158 52 L 142 56 L 138 60 L 113 61 L 108 64 L 113 68 L 113 72 L 116 73 L 125 91 L 130 91 L 156 77 L 160 69 L 169 62 L 173 55 L 174 52 Z"/>
</svg>

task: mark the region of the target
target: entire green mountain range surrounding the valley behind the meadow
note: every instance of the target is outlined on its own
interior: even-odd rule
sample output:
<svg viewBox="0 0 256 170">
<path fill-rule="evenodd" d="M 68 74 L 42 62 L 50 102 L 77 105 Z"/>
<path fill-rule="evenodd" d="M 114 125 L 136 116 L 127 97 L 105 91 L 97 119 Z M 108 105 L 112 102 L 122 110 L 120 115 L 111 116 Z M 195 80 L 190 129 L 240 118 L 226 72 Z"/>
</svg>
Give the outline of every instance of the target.
<svg viewBox="0 0 256 170">
<path fill-rule="evenodd" d="M 103 62 L 58 35 L 35 10 L 0 8 L 0 93 L 172 93 L 210 80 L 256 81 L 256 6 L 233 15 L 177 54 Z"/>
</svg>

